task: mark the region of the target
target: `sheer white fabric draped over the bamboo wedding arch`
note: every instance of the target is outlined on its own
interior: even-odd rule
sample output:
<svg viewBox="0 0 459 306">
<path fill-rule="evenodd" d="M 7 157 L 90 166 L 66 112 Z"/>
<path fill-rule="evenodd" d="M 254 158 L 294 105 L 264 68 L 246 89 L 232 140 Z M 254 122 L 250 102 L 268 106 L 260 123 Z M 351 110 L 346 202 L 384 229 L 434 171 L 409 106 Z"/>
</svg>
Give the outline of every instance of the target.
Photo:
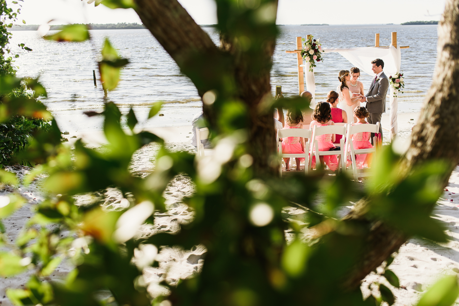
<svg viewBox="0 0 459 306">
<path fill-rule="evenodd" d="M 402 54 L 400 47 L 397 49 L 390 45 L 389 47 L 363 47 L 363 48 L 323 48 L 323 52 L 338 52 L 345 59 L 351 62 L 353 66 L 361 71 L 368 73 L 370 76 L 375 76 L 371 70 L 371 61 L 381 59 L 384 61 L 384 73 L 386 76 L 392 76 L 400 71 L 400 62 Z M 309 68 L 307 68 L 309 70 Z M 310 85 L 311 84 L 311 85 Z M 315 79 L 313 72 L 306 71 L 306 87 L 308 91 L 313 93 L 315 97 Z M 369 86 L 367 86 L 368 88 Z M 390 88 L 390 135 L 391 139 L 397 134 L 397 98 L 394 97 L 394 89 Z M 311 105 L 311 107 L 313 107 Z"/>
</svg>

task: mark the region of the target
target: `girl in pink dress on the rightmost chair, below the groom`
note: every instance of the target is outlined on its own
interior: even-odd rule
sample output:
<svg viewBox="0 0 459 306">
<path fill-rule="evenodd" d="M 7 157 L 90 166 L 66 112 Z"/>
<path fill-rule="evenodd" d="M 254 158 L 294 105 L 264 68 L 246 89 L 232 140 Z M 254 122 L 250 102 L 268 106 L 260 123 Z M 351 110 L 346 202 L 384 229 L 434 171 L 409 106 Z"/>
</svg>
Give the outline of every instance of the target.
<svg viewBox="0 0 459 306">
<path fill-rule="evenodd" d="M 363 106 L 359 106 L 356 109 L 354 109 L 354 116 L 357 117 L 358 122 L 354 123 L 353 126 L 356 126 L 359 124 L 368 124 L 368 122 L 365 121 L 365 118 L 369 117 L 369 115 L 370 115 L 369 112 Z M 369 132 L 360 132 L 360 133 L 351 135 L 351 137 L 352 137 L 352 145 L 354 149 L 373 148 L 373 146 L 371 145 L 371 142 L 369 142 L 369 139 L 370 139 Z M 364 167 L 370 167 L 371 166 L 371 153 L 356 154 L 355 164 L 357 166 L 357 169 L 362 169 Z"/>
</svg>

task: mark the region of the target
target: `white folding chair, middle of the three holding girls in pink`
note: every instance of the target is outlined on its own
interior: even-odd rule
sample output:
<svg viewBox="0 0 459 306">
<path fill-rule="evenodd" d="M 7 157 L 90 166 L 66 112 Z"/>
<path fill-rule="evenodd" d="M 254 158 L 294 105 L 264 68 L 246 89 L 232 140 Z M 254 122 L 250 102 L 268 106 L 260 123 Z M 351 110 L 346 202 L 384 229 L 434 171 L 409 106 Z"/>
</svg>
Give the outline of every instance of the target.
<svg viewBox="0 0 459 306">
<path fill-rule="evenodd" d="M 338 165 L 338 171 L 341 168 L 341 170 L 346 169 L 346 159 L 345 159 L 345 148 L 344 148 L 344 136 L 346 135 L 346 126 L 314 126 L 313 129 L 313 146 L 310 146 L 309 152 L 311 154 L 311 158 L 309 158 L 309 168 L 311 168 L 312 164 L 312 156 L 313 154 L 316 157 L 316 169 L 317 165 L 320 164 L 320 159 L 319 156 L 325 156 L 325 155 L 339 155 L 339 160 L 340 163 Z M 340 140 L 340 150 L 339 151 L 319 151 L 319 142 L 315 139 L 316 136 L 322 136 L 325 134 L 338 134 L 338 135 L 343 135 L 343 137 Z M 315 148 L 315 150 L 313 150 Z M 313 152 L 315 151 L 315 152 Z"/>
</svg>

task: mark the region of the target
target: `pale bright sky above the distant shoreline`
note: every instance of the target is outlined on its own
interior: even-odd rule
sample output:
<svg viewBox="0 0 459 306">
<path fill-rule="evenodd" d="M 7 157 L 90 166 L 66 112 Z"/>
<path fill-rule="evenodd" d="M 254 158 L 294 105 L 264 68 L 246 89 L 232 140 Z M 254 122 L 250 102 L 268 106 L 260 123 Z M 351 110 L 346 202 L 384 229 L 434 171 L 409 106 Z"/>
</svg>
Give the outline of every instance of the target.
<svg viewBox="0 0 459 306">
<path fill-rule="evenodd" d="M 179 0 L 198 24 L 217 23 L 214 0 Z M 277 24 L 386 24 L 439 20 L 445 0 L 279 0 Z M 21 4 L 21 2 L 20 2 Z M 318 5 L 319 4 L 319 5 Z M 82 0 L 24 0 L 21 19 L 28 24 L 140 22 L 132 10 L 94 7 Z"/>
</svg>

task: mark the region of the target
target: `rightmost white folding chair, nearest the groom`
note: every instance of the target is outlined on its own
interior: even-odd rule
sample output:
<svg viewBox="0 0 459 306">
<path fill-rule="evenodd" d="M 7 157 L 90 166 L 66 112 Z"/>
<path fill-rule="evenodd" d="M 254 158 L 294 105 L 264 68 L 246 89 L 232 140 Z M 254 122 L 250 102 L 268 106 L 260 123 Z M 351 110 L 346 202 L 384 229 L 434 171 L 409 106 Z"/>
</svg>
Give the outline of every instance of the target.
<svg viewBox="0 0 459 306">
<path fill-rule="evenodd" d="M 371 169 L 357 169 L 355 155 L 356 154 L 368 154 L 376 152 L 376 142 L 377 137 L 373 137 L 374 148 L 369 149 L 354 149 L 352 143 L 352 135 L 360 132 L 369 132 L 369 133 L 379 133 L 379 126 L 380 123 L 376 122 L 376 124 L 358 124 L 356 126 L 347 126 L 346 132 L 346 159 L 347 154 L 351 154 L 352 160 L 352 169 L 354 174 L 354 181 L 358 181 L 359 177 L 369 176 L 372 175 Z"/>
</svg>

